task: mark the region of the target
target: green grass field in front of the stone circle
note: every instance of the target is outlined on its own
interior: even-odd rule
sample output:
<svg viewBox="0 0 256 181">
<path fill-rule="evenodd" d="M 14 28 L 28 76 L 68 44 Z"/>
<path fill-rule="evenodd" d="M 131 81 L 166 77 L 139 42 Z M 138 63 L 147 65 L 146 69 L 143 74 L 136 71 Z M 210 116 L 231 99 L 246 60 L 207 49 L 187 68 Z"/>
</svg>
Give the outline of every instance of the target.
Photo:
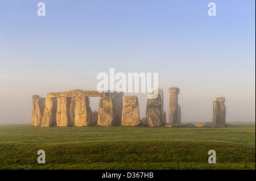
<svg viewBox="0 0 256 181">
<path fill-rule="evenodd" d="M 38 150 L 46 164 L 38 164 Z M 215 150 L 217 163 L 208 163 Z M 255 123 L 228 128 L 0 126 L 0 169 L 255 169 Z"/>
</svg>

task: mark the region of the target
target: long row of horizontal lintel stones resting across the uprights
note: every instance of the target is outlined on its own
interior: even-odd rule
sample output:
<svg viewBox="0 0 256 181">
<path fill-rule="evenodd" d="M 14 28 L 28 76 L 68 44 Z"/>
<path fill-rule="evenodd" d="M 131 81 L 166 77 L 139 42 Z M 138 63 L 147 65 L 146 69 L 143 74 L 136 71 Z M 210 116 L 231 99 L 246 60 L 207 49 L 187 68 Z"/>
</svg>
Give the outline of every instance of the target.
<svg viewBox="0 0 256 181">
<path fill-rule="evenodd" d="M 47 94 L 47 98 L 75 98 L 78 96 L 123 96 L 123 92 L 98 92 L 87 90 L 71 90 L 66 92 L 50 92 Z"/>
</svg>

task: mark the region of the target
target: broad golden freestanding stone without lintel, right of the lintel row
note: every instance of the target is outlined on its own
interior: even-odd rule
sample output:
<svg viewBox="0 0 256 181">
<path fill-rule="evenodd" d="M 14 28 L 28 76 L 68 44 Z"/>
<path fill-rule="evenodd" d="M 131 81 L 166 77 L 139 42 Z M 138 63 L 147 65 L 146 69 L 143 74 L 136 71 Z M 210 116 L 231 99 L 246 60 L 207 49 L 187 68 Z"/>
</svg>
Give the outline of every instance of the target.
<svg viewBox="0 0 256 181">
<path fill-rule="evenodd" d="M 137 96 L 125 96 L 123 100 L 122 126 L 137 127 L 139 125 L 139 102 Z"/>
</svg>

